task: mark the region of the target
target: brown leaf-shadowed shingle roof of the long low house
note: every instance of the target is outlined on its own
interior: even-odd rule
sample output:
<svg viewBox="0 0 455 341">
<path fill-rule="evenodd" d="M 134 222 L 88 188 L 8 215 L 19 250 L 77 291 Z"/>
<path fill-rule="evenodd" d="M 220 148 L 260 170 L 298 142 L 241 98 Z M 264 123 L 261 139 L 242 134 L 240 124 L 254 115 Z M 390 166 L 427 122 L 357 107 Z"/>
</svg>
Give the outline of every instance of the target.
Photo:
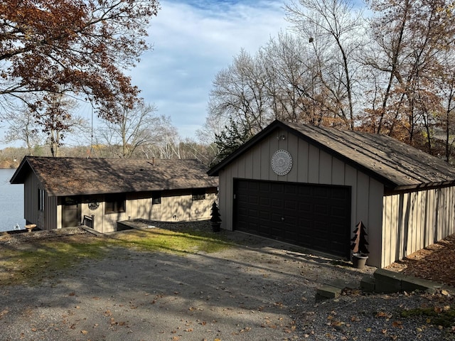
<svg viewBox="0 0 455 341">
<path fill-rule="evenodd" d="M 131 193 L 218 186 L 196 160 L 50 158 L 26 156 L 11 183 L 24 183 L 30 172 L 50 196 Z"/>
</svg>

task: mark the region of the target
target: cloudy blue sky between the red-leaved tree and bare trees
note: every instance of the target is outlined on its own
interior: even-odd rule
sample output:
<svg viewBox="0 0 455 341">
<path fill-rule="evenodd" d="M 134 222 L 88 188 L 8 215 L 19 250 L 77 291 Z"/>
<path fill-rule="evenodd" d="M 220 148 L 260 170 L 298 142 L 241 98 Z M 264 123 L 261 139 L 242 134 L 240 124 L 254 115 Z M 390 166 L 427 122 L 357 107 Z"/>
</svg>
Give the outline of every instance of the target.
<svg viewBox="0 0 455 341">
<path fill-rule="evenodd" d="M 132 70 L 146 102 L 170 116 L 182 137 L 205 122 L 208 94 L 220 70 L 244 48 L 255 54 L 287 27 L 282 1 L 161 1 L 151 21 L 154 49 Z"/>
</svg>

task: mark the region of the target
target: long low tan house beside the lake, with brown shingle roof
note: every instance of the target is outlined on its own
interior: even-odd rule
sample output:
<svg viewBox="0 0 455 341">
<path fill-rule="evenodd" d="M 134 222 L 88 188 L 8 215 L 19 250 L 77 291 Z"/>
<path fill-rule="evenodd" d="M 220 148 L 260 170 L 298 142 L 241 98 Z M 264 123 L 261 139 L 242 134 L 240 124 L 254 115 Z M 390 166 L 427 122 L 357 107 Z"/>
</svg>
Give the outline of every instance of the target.
<svg viewBox="0 0 455 341">
<path fill-rule="evenodd" d="M 129 219 L 209 219 L 218 178 L 206 171 L 196 160 L 26 156 L 10 182 L 24 185 L 27 224 L 105 233 Z"/>
</svg>

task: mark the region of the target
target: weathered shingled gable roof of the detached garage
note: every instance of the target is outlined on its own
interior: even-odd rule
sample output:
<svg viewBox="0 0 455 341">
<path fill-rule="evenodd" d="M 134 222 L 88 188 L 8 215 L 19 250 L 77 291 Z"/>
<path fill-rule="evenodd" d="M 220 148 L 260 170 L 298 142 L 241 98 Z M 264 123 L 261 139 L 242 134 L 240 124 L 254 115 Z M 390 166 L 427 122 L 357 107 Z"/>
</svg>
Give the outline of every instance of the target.
<svg viewBox="0 0 455 341">
<path fill-rule="evenodd" d="M 389 190 L 455 185 L 455 168 L 428 153 L 380 134 L 274 121 L 208 171 L 218 175 L 228 163 L 272 131 L 285 129 L 383 183 Z"/>
</svg>

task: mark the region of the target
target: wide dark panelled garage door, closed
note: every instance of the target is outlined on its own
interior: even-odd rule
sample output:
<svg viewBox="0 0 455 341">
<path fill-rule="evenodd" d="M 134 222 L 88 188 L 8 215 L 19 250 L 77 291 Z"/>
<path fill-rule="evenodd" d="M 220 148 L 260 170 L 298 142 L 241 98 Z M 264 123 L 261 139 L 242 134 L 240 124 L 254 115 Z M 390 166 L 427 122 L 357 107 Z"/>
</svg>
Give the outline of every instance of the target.
<svg viewBox="0 0 455 341">
<path fill-rule="evenodd" d="M 349 256 L 350 188 L 235 180 L 234 229 Z"/>
</svg>

